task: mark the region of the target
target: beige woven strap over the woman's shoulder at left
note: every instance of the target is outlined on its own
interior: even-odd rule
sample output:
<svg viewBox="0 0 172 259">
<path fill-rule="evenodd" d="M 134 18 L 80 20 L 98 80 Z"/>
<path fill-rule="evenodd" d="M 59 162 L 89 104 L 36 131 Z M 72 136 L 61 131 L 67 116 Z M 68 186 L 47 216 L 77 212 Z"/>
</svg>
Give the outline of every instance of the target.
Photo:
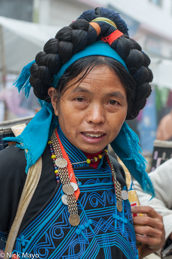
<svg viewBox="0 0 172 259">
<path fill-rule="evenodd" d="M 20 124 L 20 125 L 11 127 L 14 135 L 18 136 L 19 134 L 21 134 L 21 132 L 24 129 L 24 126 L 26 126 L 26 124 L 25 125 Z M 41 177 L 41 171 L 42 171 L 42 158 L 40 157 L 36 161 L 36 163 L 32 165 L 28 170 L 26 182 L 17 207 L 17 213 L 14 218 L 14 222 L 11 226 L 7 243 L 5 246 L 5 259 L 9 258 L 9 256 L 7 257 L 7 253 L 10 254 L 13 251 L 14 244 L 15 244 L 23 217 L 30 204 L 30 201 L 32 200 L 32 197 L 38 185 L 39 179 Z"/>
</svg>

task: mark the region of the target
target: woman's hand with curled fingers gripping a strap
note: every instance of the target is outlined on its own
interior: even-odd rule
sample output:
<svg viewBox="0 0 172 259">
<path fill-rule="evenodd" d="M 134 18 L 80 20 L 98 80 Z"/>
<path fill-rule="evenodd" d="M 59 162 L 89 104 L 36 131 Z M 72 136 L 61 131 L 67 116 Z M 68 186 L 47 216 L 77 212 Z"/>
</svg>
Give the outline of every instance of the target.
<svg viewBox="0 0 172 259">
<path fill-rule="evenodd" d="M 131 207 L 131 212 L 134 214 L 146 214 L 143 217 L 133 217 L 134 225 L 144 225 L 134 226 L 136 240 L 142 243 L 140 258 L 143 258 L 148 254 L 158 251 L 164 245 L 165 229 L 162 216 L 150 206 L 134 206 Z"/>
</svg>

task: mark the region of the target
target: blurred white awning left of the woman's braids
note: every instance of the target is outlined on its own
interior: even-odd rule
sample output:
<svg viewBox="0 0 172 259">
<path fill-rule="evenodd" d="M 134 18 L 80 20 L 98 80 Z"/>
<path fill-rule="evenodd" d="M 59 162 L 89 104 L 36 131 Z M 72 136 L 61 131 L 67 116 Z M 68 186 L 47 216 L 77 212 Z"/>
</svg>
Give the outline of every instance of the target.
<svg viewBox="0 0 172 259">
<path fill-rule="evenodd" d="M 58 26 L 31 23 L 0 16 L 3 27 L 5 65 L 7 73 L 20 73 L 43 50 L 48 39 L 61 28 Z M 2 67 L 0 58 L 0 68 Z"/>
</svg>

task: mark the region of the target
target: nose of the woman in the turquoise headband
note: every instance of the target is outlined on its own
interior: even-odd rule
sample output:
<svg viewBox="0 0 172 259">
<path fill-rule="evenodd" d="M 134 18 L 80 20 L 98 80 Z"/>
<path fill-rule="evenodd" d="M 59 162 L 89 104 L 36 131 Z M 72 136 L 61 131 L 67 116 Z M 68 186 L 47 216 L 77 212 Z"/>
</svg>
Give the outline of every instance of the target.
<svg viewBox="0 0 172 259">
<path fill-rule="evenodd" d="M 100 105 L 93 105 L 88 109 L 87 122 L 94 124 L 103 124 L 105 122 L 105 113 Z"/>
</svg>

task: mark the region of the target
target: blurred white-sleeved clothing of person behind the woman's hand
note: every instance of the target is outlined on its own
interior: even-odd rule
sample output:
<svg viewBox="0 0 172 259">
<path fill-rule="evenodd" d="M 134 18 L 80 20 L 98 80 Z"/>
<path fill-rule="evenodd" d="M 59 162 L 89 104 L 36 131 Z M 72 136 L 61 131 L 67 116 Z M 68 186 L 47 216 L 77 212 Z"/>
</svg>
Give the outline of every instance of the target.
<svg viewBox="0 0 172 259">
<path fill-rule="evenodd" d="M 165 243 L 157 253 L 163 258 L 172 259 L 172 158 L 149 173 L 149 177 L 155 189 L 155 198 L 151 199 L 151 195 L 143 192 L 137 181 L 134 181 L 134 187 L 140 204 L 151 206 L 163 217 Z"/>
</svg>

